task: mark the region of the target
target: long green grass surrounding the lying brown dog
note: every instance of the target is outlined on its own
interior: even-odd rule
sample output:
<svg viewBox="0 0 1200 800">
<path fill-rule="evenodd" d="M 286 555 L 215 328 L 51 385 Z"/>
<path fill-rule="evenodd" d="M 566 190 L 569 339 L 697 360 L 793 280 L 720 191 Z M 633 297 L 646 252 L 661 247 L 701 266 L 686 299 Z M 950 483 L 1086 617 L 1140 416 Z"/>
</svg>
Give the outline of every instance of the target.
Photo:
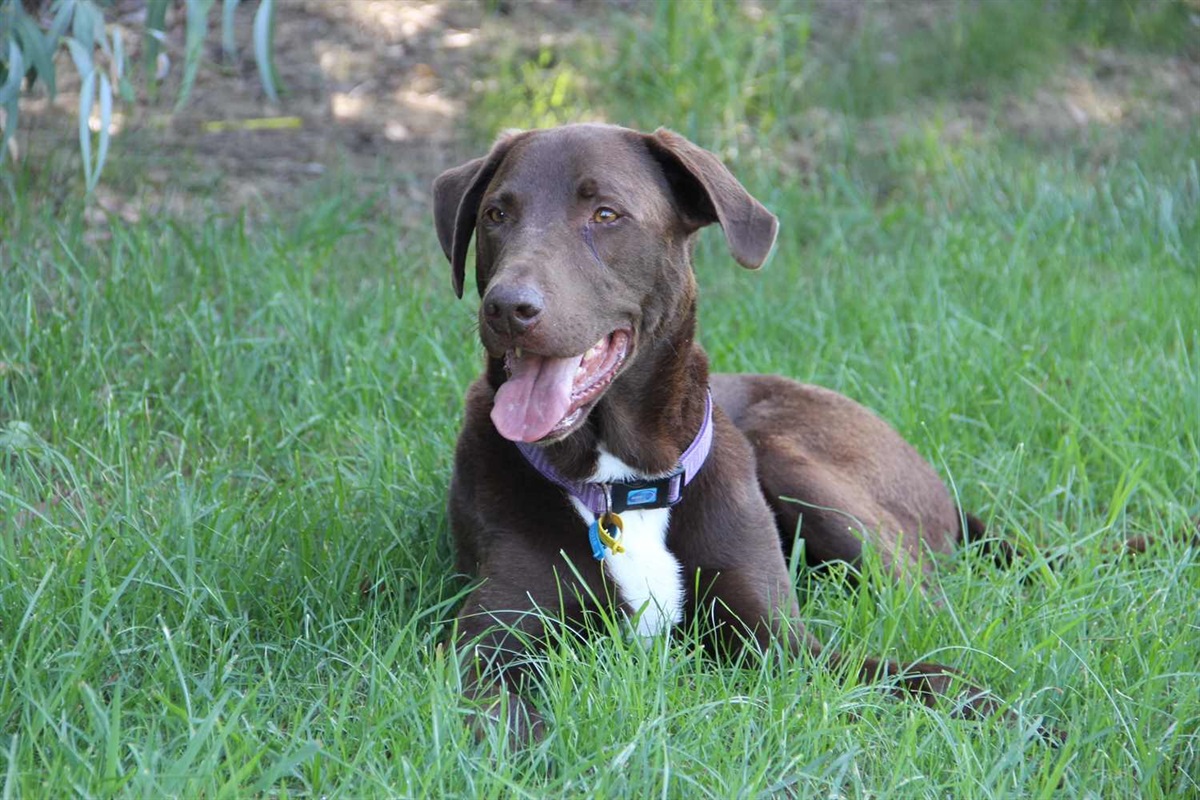
<svg viewBox="0 0 1200 800">
<path fill-rule="evenodd" d="M 696 86 L 764 24 L 709 13 L 736 36 L 726 55 L 679 40 Z M 722 72 L 715 113 L 581 48 L 503 107 L 482 100 L 480 125 L 541 119 L 541 73 L 570 68 L 589 78 L 546 107 L 558 119 L 670 122 L 779 212 L 760 273 L 702 236 L 715 366 L 865 402 L 967 509 L 1064 558 L 958 555 L 942 606 L 875 563 L 858 591 L 800 572 L 805 619 L 852 655 L 954 664 L 1018 724 L 893 702 L 810 658 L 716 664 L 683 631 L 646 650 L 563 637 L 540 662 L 547 739 L 476 744 L 440 645 L 467 588 L 443 504 L 479 347 L 427 215 L 331 190 L 257 228 L 109 230 L 20 179 L 0 211 L 2 795 L 1200 793 L 1200 551 L 1183 536 L 1200 513 L 1200 137 L 1039 150 L 928 125 L 878 148 L 866 119 L 798 174 L 785 72 L 826 56 L 768 44 L 757 71 Z M 599 91 L 618 78 L 637 85 Z M 1160 541 L 1104 554 L 1133 534 Z M 1032 734 L 1042 718 L 1064 746 Z"/>
</svg>

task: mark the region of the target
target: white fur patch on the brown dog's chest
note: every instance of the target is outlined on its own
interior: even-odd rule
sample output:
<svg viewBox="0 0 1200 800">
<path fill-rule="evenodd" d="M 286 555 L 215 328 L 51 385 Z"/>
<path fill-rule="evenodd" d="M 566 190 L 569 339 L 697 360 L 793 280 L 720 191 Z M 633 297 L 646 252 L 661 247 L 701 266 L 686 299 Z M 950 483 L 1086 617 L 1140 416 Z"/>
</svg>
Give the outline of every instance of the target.
<svg viewBox="0 0 1200 800">
<path fill-rule="evenodd" d="M 607 483 L 643 477 L 647 476 L 600 449 L 593 481 Z M 570 499 L 584 524 L 590 525 L 595 519 L 592 511 L 574 497 Z M 605 555 L 601 569 L 617 584 L 620 599 L 632 609 L 637 634 L 659 636 L 683 621 L 682 567 L 667 549 L 671 510 L 623 511 L 620 518 L 625 524 L 620 537 L 625 552 Z"/>
</svg>

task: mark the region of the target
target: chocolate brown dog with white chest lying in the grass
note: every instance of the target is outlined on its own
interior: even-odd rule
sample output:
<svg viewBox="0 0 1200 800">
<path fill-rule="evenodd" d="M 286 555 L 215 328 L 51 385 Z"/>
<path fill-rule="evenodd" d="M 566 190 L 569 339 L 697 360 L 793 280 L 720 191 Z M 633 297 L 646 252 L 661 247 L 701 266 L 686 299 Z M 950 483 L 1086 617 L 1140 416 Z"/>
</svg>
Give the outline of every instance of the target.
<svg viewBox="0 0 1200 800">
<path fill-rule="evenodd" d="M 780 639 L 816 654 L 784 559 L 797 531 L 810 564 L 869 546 L 898 575 L 972 533 L 930 465 L 862 405 L 709 375 L 692 235 L 719 223 L 756 269 L 778 228 L 712 154 L 665 130 L 528 131 L 433 194 L 458 296 L 475 236 L 487 350 L 450 483 L 458 569 L 481 579 L 458 634 L 476 656 L 470 693 L 508 694 L 520 739 L 542 726 L 521 682 L 548 616 L 583 627 L 610 604 L 643 636 L 700 620 L 719 649 Z M 930 704 L 960 693 L 967 715 L 996 709 L 938 664 L 860 672 Z"/>
</svg>

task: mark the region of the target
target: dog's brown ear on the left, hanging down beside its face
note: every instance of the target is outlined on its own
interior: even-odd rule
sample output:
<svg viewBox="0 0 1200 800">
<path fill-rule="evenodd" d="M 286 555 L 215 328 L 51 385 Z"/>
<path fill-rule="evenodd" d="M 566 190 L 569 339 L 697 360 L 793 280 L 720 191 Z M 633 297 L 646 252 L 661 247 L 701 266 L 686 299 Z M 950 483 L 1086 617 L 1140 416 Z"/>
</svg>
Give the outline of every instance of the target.
<svg viewBox="0 0 1200 800">
<path fill-rule="evenodd" d="M 467 273 L 467 248 L 475 233 L 479 201 L 496 169 L 522 137 L 522 133 L 505 133 L 496 140 L 492 151 L 486 156 L 448 169 L 433 181 L 433 224 L 438 229 L 442 252 L 450 259 L 454 270 L 454 291 L 460 297 Z"/>
</svg>

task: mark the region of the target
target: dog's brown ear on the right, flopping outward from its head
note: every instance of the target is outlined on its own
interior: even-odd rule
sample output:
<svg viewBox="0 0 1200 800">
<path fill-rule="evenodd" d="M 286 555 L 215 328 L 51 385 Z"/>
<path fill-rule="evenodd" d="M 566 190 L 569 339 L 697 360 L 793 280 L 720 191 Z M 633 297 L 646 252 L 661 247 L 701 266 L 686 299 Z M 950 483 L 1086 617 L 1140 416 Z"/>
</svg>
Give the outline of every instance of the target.
<svg viewBox="0 0 1200 800">
<path fill-rule="evenodd" d="M 666 128 L 646 139 L 689 221 L 697 228 L 719 222 L 733 260 L 750 270 L 762 266 L 779 231 L 775 215 L 703 148 Z"/>
</svg>

